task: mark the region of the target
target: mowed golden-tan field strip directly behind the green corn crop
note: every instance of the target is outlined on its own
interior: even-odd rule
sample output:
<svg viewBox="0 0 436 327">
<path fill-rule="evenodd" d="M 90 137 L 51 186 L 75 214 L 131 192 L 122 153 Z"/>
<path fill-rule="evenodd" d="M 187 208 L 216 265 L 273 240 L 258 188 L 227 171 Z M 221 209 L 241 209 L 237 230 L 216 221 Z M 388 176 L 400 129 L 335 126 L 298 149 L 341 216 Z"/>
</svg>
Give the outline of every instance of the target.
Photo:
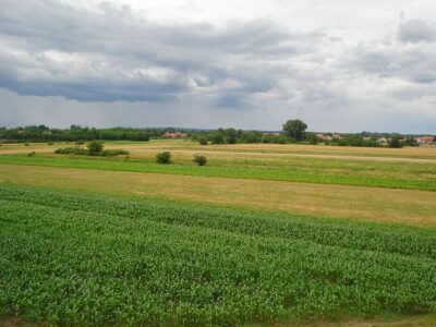
<svg viewBox="0 0 436 327">
<path fill-rule="evenodd" d="M 425 191 L 13 165 L 0 165 L 0 182 L 436 226 Z"/>
</svg>

